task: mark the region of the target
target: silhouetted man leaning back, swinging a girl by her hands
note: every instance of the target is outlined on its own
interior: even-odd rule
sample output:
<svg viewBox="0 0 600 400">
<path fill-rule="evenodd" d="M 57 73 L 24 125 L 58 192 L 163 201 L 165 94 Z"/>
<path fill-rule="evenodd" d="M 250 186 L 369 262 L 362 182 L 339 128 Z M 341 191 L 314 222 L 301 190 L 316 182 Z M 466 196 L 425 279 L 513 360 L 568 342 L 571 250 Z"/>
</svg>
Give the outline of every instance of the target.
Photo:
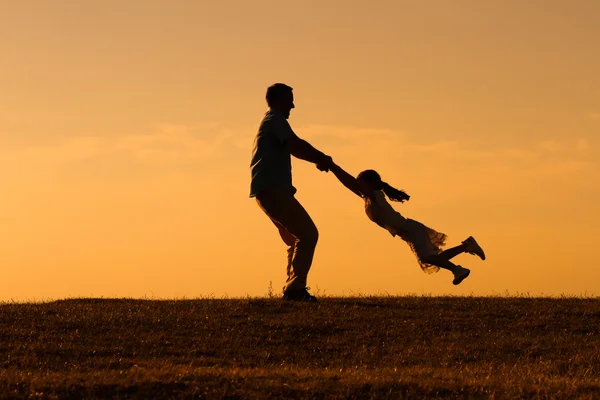
<svg viewBox="0 0 600 400">
<path fill-rule="evenodd" d="M 267 89 L 266 99 L 269 110 L 260 123 L 252 151 L 250 197 L 256 198 L 288 246 L 283 298 L 316 301 L 308 293 L 306 279 L 319 232 L 294 196 L 291 156 L 314 163 L 321 171 L 329 171 L 333 160 L 300 139 L 290 127 L 287 119 L 294 108 L 291 87 L 276 83 Z"/>
</svg>

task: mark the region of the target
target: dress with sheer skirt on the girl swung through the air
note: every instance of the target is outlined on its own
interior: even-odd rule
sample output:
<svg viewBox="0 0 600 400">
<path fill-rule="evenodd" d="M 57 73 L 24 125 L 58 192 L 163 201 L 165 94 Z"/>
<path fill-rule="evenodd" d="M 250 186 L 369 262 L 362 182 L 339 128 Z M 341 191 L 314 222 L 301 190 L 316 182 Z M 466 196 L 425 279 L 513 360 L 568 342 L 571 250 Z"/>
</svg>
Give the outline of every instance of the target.
<svg viewBox="0 0 600 400">
<path fill-rule="evenodd" d="M 382 190 L 375 191 L 375 198 L 365 197 L 365 211 L 369 219 L 384 229 L 392 236 L 400 236 L 410 246 L 421 269 L 432 274 L 440 270 L 439 267 L 423 262 L 427 257 L 438 255 L 446 244 L 446 235 L 436 232 L 422 223 L 404 218 L 396 211 L 385 198 Z"/>
</svg>

